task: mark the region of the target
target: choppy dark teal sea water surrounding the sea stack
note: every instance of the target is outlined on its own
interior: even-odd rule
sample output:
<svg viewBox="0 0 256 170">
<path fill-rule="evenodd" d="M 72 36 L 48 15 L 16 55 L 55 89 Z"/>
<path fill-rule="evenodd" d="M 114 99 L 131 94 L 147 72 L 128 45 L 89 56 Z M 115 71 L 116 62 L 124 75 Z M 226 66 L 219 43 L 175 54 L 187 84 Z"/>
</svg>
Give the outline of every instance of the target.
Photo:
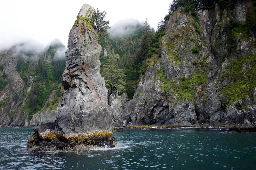
<svg viewBox="0 0 256 170">
<path fill-rule="evenodd" d="M 224 129 L 126 130 L 112 149 L 28 152 L 32 128 L 0 129 L 0 169 L 256 169 L 256 134 Z"/>
</svg>

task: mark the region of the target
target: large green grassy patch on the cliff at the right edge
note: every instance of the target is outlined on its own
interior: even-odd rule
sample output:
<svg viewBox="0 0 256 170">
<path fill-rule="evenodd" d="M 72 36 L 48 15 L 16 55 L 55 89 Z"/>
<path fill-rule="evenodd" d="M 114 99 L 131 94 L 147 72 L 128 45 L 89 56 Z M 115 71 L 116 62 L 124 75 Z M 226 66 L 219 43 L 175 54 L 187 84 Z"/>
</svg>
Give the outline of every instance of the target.
<svg viewBox="0 0 256 170">
<path fill-rule="evenodd" d="M 220 93 L 229 98 L 228 106 L 246 96 L 253 98 L 253 88 L 256 88 L 256 54 L 229 60 L 231 66 L 222 77 L 230 77 L 233 83 L 220 89 Z"/>
</svg>

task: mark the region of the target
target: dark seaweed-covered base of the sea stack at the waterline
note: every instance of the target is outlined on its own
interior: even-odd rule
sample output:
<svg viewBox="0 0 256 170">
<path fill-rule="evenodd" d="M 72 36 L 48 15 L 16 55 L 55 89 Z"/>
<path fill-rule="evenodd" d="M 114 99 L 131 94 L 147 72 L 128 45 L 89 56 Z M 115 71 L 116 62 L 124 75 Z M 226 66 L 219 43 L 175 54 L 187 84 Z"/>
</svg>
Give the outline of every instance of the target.
<svg viewBox="0 0 256 170">
<path fill-rule="evenodd" d="M 63 135 L 50 132 L 40 137 L 34 133 L 28 140 L 29 151 L 76 151 L 95 147 L 115 147 L 116 139 L 113 133 L 104 131 L 85 136 Z"/>
</svg>

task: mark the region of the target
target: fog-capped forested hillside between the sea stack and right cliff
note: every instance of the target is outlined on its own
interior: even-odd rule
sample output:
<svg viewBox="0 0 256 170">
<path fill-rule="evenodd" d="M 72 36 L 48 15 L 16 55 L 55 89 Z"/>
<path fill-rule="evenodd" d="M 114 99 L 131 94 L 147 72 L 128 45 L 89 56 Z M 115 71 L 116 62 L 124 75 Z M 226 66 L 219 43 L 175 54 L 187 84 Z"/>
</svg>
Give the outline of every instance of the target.
<svg viewBox="0 0 256 170">
<path fill-rule="evenodd" d="M 116 69 L 119 69 L 119 74 L 122 72 L 121 77 L 124 80 L 124 83 L 119 83 L 121 87 L 116 89 L 121 93 L 126 92 L 132 99 L 140 75 L 147 68 L 147 60 L 153 53 L 160 55 L 158 40 L 160 33 L 150 27 L 148 20 L 144 24 L 137 20 L 120 21 L 108 32 L 109 34 L 104 34 L 99 39 L 104 49 L 100 55 L 101 73 L 106 80 L 106 76 L 108 77 L 113 71 L 109 70 L 105 64 L 115 60 L 118 66 Z M 118 80 L 120 76 L 117 73 L 113 77 Z M 114 82 L 114 79 L 111 82 Z M 113 85 L 110 84 L 108 89 L 111 89 L 111 86 Z"/>
</svg>

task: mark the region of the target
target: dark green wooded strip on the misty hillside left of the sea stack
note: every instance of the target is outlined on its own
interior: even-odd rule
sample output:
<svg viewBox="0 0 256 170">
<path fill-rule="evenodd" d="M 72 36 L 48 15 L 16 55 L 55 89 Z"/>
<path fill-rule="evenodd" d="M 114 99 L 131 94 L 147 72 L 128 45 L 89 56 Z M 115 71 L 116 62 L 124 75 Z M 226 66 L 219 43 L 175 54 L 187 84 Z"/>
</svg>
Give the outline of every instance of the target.
<svg viewBox="0 0 256 170">
<path fill-rule="evenodd" d="M 31 120 L 33 115 L 44 107 L 53 90 L 59 90 L 57 87 L 66 66 L 65 57 L 59 56 L 59 51 L 63 48 L 63 44 L 51 45 L 37 60 L 33 58 L 34 54 L 26 56 L 26 54 L 20 53 L 16 70 L 26 87 L 32 85 L 28 100 L 24 101 L 26 103 L 22 109 L 24 112 L 28 112 L 28 120 Z M 33 79 L 31 79 L 32 77 Z M 33 82 L 28 84 L 30 79 Z"/>
</svg>

